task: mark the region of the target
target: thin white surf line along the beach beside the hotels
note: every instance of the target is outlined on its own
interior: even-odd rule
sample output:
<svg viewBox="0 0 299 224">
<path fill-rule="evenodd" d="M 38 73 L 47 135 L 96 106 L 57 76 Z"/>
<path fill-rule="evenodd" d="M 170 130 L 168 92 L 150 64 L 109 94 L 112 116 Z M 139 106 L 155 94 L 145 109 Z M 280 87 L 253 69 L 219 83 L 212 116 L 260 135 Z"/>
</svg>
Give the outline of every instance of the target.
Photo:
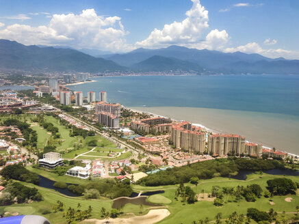
<svg viewBox="0 0 299 224">
<path fill-rule="evenodd" d="M 183 121 L 183 120 L 178 120 L 178 119 L 174 119 L 173 117 L 168 117 L 168 116 L 164 116 L 164 115 L 159 115 L 157 113 L 152 113 L 152 112 L 148 112 L 148 108 L 151 108 L 151 107 L 144 107 L 144 109 L 140 109 L 138 107 L 138 109 L 132 109 L 131 107 L 126 107 L 127 109 L 130 109 L 131 111 L 134 111 L 134 112 L 138 112 L 138 113 L 148 113 L 150 115 L 154 115 L 154 116 L 157 116 L 157 117 L 167 117 L 167 118 L 170 118 L 171 120 L 173 121 L 176 121 L 176 122 L 180 122 L 180 121 Z M 157 108 L 157 107 L 153 107 L 153 108 Z M 186 119 L 186 121 L 188 121 Z M 190 122 L 190 121 L 189 121 Z M 217 134 L 227 134 L 229 132 L 226 132 L 224 130 L 219 130 L 220 128 L 215 128 L 215 127 L 211 127 L 211 126 L 207 126 L 207 125 L 203 125 L 203 124 L 198 124 L 198 123 L 194 123 L 194 122 L 191 122 L 192 125 L 194 126 L 200 126 L 202 128 L 205 128 L 208 132 L 212 132 L 212 133 L 217 133 Z M 246 137 L 246 136 L 244 136 Z M 260 143 L 259 141 L 253 141 L 253 139 L 250 139 L 246 137 L 246 142 L 254 142 L 254 143 Z M 269 143 L 261 143 L 263 145 L 263 148 L 268 148 L 268 149 L 272 149 L 273 147 L 269 145 Z M 279 149 L 278 149 L 279 150 Z M 280 150 L 282 152 L 287 152 L 287 154 L 289 154 L 290 156 L 297 156 L 299 158 L 299 155 L 298 154 L 294 154 L 293 152 L 288 152 L 287 150 Z"/>
</svg>

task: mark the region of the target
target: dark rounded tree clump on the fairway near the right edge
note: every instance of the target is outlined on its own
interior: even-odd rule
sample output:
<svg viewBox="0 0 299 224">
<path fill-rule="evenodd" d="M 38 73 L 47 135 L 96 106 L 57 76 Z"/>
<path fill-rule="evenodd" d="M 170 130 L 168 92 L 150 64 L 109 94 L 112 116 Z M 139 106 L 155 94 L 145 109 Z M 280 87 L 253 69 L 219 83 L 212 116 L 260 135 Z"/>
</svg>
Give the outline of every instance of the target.
<svg viewBox="0 0 299 224">
<path fill-rule="evenodd" d="M 287 195 L 288 193 L 295 193 L 297 185 L 287 178 L 275 178 L 268 180 L 268 189 L 272 195 Z"/>
</svg>

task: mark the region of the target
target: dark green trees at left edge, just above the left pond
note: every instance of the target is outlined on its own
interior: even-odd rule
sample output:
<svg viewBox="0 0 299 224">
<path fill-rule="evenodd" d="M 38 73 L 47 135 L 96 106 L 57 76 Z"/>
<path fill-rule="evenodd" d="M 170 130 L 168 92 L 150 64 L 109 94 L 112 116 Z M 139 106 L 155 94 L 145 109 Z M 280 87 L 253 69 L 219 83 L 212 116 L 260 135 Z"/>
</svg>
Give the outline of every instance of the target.
<svg viewBox="0 0 299 224">
<path fill-rule="evenodd" d="M 0 171 L 0 175 L 5 178 L 5 180 L 21 180 L 24 182 L 30 182 L 33 184 L 39 184 L 40 179 L 38 178 L 38 174 L 33 173 L 27 170 L 21 163 L 16 165 L 10 165 L 4 167 Z"/>
</svg>

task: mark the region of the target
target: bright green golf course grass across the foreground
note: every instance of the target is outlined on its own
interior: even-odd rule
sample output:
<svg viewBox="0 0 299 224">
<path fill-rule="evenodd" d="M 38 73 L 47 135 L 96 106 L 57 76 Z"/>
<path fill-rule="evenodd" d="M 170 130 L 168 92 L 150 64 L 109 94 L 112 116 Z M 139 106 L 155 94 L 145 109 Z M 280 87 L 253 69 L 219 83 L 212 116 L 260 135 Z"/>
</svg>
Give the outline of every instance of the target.
<svg viewBox="0 0 299 224">
<path fill-rule="evenodd" d="M 27 167 L 27 169 L 31 171 L 36 171 L 39 174 L 42 174 L 43 176 L 46 176 L 47 178 L 50 178 L 52 180 L 69 182 L 68 178 L 71 180 L 76 180 L 76 178 L 71 178 L 68 176 L 56 176 L 55 173 L 49 173 L 47 171 L 40 171 L 39 169 L 34 169 L 31 167 Z M 38 171 L 37 171 L 38 170 Z M 191 186 L 196 193 L 201 193 L 202 190 L 205 191 L 205 193 L 211 192 L 211 187 L 215 185 L 219 186 L 237 186 L 237 185 L 243 185 L 247 186 L 249 184 L 259 184 L 263 190 L 265 190 L 266 181 L 278 178 L 283 176 L 272 176 L 268 174 L 263 174 L 263 176 L 260 176 L 258 174 L 251 174 L 248 176 L 248 179 L 246 181 L 244 180 L 233 180 L 230 178 L 213 178 L 210 180 L 200 180 L 198 183 L 198 186 L 192 185 L 192 184 L 185 184 L 188 186 Z M 287 178 L 290 178 L 296 182 L 299 182 L 299 177 L 294 176 L 287 176 Z M 78 180 L 79 182 L 87 181 L 87 180 Z M 79 183 L 77 180 L 74 183 Z M 34 186 L 33 184 L 25 183 L 26 185 Z M 4 211 L 11 211 L 11 212 L 19 212 L 20 214 L 40 214 L 40 208 L 43 206 L 48 206 L 48 208 L 51 208 L 57 200 L 60 200 L 64 203 L 64 208 L 68 208 L 69 206 L 75 208 L 77 206 L 77 203 L 80 203 L 82 205 L 81 209 L 86 209 L 88 206 L 92 206 L 92 218 L 99 219 L 100 217 L 100 210 L 102 207 L 106 208 L 106 210 L 110 211 L 112 209 L 112 201 L 109 199 L 92 199 L 92 200 L 86 200 L 83 197 L 66 197 L 64 195 L 61 195 L 60 193 L 56 193 L 53 190 L 41 188 L 37 186 L 40 193 L 42 193 L 42 196 L 44 197 L 44 201 L 40 202 L 34 202 L 31 204 L 20 204 L 20 205 L 12 205 L 12 206 L 1 206 L 0 212 Z M 236 211 L 239 214 L 246 214 L 247 208 L 257 208 L 259 210 L 268 211 L 270 208 L 273 208 L 276 212 L 295 212 L 296 206 L 299 204 L 299 196 L 298 195 L 286 195 L 286 196 L 274 196 L 272 198 L 265 198 L 261 197 L 257 199 L 256 202 L 247 202 L 244 199 L 241 201 L 235 203 L 235 202 L 229 202 L 226 199 L 226 203 L 222 207 L 216 207 L 213 206 L 213 202 L 209 201 L 198 201 L 195 204 L 184 204 L 181 202 L 181 199 L 178 201 L 174 199 L 175 197 L 175 191 L 177 189 L 177 185 L 169 185 L 169 186 L 155 186 L 155 187 L 144 187 L 144 186 L 138 186 L 133 185 L 134 191 L 153 191 L 157 189 L 164 190 L 165 193 L 159 194 L 159 195 L 152 195 L 151 197 L 148 197 L 148 201 L 151 201 L 153 203 L 157 204 L 167 204 L 167 208 L 170 211 L 170 216 L 168 216 L 166 219 L 160 221 L 161 224 L 170 224 L 170 223 L 192 223 L 192 221 L 198 221 L 200 219 L 205 219 L 205 217 L 208 217 L 209 220 L 214 220 L 214 217 L 218 212 L 222 213 L 222 216 L 226 218 L 231 214 L 232 212 Z M 286 197 L 292 197 L 293 200 L 291 202 L 285 201 Z M 270 205 L 270 199 L 274 201 L 275 205 Z M 133 204 L 127 204 L 124 208 L 124 217 L 129 216 L 129 214 L 126 213 L 133 213 L 136 215 L 140 215 L 140 206 L 133 205 Z M 23 213 L 24 212 L 24 213 Z M 142 214 L 145 214 L 148 212 L 148 207 L 144 206 L 142 210 Z M 65 223 L 64 218 L 62 217 L 62 212 L 57 213 L 51 213 L 44 215 L 51 221 L 51 223 Z M 286 216 L 291 216 L 291 214 L 286 214 Z M 254 223 L 254 222 L 252 222 Z"/>
</svg>

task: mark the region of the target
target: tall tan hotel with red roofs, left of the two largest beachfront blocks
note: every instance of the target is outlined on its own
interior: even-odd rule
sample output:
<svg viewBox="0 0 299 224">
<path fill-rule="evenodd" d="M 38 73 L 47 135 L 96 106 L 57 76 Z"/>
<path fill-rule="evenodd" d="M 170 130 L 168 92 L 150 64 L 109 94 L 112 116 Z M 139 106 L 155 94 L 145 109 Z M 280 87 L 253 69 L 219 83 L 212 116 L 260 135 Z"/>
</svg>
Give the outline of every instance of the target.
<svg viewBox="0 0 299 224">
<path fill-rule="evenodd" d="M 189 122 L 172 125 L 170 141 L 175 148 L 191 152 L 205 152 L 205 132 Z"/>
</svg>

